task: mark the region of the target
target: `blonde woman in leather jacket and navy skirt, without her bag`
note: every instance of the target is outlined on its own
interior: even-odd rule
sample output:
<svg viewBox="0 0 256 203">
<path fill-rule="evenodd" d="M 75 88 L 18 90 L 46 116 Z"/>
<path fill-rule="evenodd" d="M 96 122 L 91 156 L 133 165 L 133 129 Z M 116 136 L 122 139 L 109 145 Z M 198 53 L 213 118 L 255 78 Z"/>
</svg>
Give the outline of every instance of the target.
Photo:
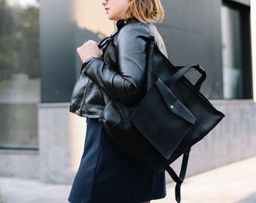
<svg viewBox="0 0 256 203">
<path fill-rule="evenodd" d="M 160 0 L 102 1 L 117 29 L 100 49 L 96 41 L 78 47 L 88 77 L 84 111 L 87 136 L 81 165 L 69 201 L 72 203 L 148 203 L 166 195 L 164 171 L 151 174 L 133 163 L 102 129 L 98 118 L 116 98 L 135 105 L 143 95 L 146 47 L 155 41 L 166 54 L 162 38 L 152 23 L 163 20 Z M 71 111 L 75 111 L 72 107 Z"/>
</svg>

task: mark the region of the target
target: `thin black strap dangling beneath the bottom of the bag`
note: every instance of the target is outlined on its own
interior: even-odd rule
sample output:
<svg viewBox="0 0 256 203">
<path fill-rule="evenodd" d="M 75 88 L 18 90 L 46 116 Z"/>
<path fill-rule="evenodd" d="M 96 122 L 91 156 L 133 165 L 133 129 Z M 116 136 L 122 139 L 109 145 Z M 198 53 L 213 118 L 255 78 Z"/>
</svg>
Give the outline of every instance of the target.
<svg viewBox="0 0 256 203">
<path fill-rule="evenodd" d="M 172 177 L 172 180 L 175 181 L 176 186 L 175 186 L 175 200 L 180 203 L 181 202 L 181 184 L 184 181 L 184 178 L 186 176 L 186 171 L 187 171 L 187 162 L 188 162 L 188 157 L 189 157 L 190 150 L 185 152 L 183 154 L 182 158 L 182 163 L 181 163 L 181 171 L 179 176 L 175 173 L 175 171 L 172 169 L 170 165 L 166 165 L 166 171 L 168 174 Z"/>
</svg>

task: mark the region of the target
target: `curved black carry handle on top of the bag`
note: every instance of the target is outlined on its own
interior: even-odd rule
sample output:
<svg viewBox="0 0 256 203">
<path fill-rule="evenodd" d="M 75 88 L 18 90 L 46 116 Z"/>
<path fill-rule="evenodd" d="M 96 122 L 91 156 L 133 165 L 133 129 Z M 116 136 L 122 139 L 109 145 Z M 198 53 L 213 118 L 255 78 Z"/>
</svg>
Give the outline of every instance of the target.
<svg viewBox="0 0 256 203">
<path fill-rule="evenodd" d="M 172 85 L 184 74 L 186 74 L 187 71 L 189 71 L 191 68 L 194 68 L 201 74 L 201 77 L 197 80 L 197 83 L 195 83 L 194 85 L 195 90 L 199 92 L 202 83 L 204 82 L 204 80 L 206 80 L 206 71 L 199 64 L 193 63 L 188 63 L 186 66 L 176 66 L 176 68 L 178 68 L 178 71 L 175 72 L 175 74 L 173 74 L 172 77 L 169 77 L 169 79 L 166 82 L 166 85 Z"/>
</svg>

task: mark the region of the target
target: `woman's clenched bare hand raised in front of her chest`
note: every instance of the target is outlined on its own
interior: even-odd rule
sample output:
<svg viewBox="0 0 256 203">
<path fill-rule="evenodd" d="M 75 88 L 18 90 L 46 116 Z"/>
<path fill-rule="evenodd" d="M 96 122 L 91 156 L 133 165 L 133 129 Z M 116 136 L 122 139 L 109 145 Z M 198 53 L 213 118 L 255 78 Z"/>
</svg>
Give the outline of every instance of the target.
<svg viewBox="0 0 256 203">
<path fill-rule="evenodd" d="M 96 41 L 92 40 L 85 41 L 81 47 L 78 47 L 77 52 L 82 62 L 89 59 L 90 57 L 100 58 L 103 54 L 102 49 L 99 49 Z"/>
</svg>

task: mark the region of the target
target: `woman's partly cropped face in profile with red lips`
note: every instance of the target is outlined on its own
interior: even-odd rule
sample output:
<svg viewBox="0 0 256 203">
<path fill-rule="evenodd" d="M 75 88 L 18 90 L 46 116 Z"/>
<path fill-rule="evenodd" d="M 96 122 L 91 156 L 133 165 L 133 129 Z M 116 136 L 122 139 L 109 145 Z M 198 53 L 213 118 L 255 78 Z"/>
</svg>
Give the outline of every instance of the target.
<svg viewBox="0 0 256 203">
<path fill-rule="evenodd" d="M 130 2 L 131 0 L 102 0 L 102 5 L 109 20 L 121 20 L 125 18 Z"/>
</svg>

